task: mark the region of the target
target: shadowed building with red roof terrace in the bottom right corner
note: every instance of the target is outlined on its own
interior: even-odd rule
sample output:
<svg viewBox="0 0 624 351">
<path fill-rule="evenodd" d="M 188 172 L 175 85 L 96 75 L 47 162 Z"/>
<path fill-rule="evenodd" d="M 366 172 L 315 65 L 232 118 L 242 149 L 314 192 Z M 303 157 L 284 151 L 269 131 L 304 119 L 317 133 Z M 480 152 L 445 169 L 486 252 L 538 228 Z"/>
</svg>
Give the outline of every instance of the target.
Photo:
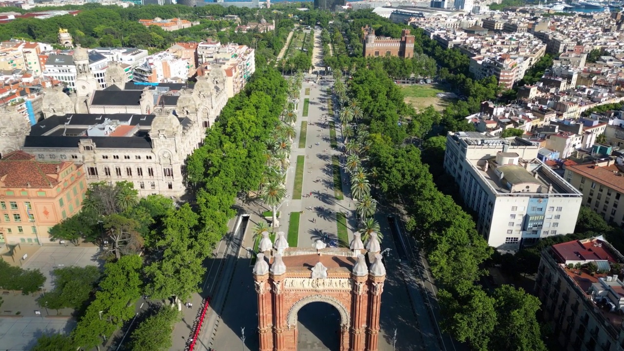
<svg viewBox="0 0 624 351">
<path fill-rule="evenodd" d="M 535 294 L 561 350 L 624 350 L 623 262 L 620 252 L 597 238 L 542 251 Z"/>
</svg>

